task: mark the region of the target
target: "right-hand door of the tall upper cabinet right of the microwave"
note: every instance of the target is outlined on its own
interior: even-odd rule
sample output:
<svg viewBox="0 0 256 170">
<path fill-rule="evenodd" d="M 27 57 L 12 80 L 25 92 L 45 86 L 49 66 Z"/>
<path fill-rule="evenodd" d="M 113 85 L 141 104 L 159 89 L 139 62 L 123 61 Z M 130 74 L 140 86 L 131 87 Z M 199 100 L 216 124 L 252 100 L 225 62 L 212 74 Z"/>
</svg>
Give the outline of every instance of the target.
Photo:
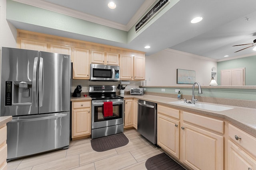
<svg viewBox="0 0 256 170">
<path fill-rule="evenodd" d="M 145 80 L 145 57 L 134 56 L 134 80 Z"/>
</svg>

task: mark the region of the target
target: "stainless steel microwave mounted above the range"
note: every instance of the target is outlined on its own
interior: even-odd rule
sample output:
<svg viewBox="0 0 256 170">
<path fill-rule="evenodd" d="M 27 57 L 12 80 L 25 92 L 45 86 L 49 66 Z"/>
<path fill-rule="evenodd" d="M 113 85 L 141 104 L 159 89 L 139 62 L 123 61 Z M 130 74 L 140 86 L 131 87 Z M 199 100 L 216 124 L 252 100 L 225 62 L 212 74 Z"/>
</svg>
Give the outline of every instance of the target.
<svg viewBox="0 0 256 170">
<path fill-rule="evenodd" d="M 91 81 L 118 81 L 120 80 L 120 67 L 90 64 L 90 80 Z"/>
</svg>

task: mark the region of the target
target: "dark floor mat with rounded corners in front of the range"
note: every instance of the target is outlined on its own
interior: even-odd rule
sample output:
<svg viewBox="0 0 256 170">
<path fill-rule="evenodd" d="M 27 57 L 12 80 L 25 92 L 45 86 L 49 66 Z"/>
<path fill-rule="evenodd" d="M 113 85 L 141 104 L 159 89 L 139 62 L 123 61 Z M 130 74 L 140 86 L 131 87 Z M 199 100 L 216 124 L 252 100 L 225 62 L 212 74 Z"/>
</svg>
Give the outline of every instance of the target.
<svg viewBox="0 0 256 170">
<path fill-rule="evenodd" d="M 124 133 L 119 133 L 116 135 L 110 135 L 106 137 L 100 137 L 91 140 L 92 149 L 97 152 L 103 152 L 106 150 L 118 148 L 125 146 L 129 143 L 129 140 L 124 135 Z"/>
</svg>

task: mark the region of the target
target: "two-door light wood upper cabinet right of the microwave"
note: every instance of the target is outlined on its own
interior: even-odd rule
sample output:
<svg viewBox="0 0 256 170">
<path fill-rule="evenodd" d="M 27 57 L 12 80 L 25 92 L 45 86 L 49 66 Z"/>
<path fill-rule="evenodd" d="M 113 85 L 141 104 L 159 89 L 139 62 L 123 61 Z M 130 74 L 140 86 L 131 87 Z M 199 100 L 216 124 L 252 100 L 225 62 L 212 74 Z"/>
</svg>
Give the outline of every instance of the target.
<svg viewBox="0 0 256 170">
<path fill-rule="evenodd" d="M 120 55 L 120 79 L 144 80 L 145 57 Z"/>
</svg>

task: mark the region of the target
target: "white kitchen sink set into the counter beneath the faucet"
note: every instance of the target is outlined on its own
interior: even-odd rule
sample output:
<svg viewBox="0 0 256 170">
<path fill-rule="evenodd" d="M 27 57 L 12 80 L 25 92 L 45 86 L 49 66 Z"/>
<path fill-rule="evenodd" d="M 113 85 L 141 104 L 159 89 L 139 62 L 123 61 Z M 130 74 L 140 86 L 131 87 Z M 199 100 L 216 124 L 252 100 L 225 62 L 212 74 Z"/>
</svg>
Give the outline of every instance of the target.
<svg viewBox="0 0 256 170">
<path fill-rule="evenodd" d="M 206 109 L 210 111 L 224 111 L 224 110 L 234 109 L 233 107 L 218 106 L 213 104 L 204 104 L 204 103 L 189 104 L 189 103 L 184 103 L 184 101 L 174 101 L 174 102 L 167 102 L 167 103 L 195 107 L 198 109 Z"/>
</svg>

